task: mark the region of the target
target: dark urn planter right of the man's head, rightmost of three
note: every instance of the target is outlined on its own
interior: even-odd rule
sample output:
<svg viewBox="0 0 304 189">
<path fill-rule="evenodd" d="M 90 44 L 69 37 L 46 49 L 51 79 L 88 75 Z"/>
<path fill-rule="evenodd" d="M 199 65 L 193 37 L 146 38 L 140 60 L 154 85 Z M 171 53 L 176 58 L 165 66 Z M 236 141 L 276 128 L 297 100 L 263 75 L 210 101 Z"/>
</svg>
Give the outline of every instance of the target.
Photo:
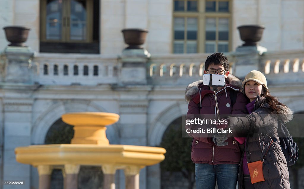
<svg viewBox="0 0 304 189">
<path fill-rule="evenodd" d="M 241 25 L 237 29 L 242 41 L 245 42 L 243 46 L 257 46 L 262 39 L 265 27 L 262 25 Z"/>
</svg>

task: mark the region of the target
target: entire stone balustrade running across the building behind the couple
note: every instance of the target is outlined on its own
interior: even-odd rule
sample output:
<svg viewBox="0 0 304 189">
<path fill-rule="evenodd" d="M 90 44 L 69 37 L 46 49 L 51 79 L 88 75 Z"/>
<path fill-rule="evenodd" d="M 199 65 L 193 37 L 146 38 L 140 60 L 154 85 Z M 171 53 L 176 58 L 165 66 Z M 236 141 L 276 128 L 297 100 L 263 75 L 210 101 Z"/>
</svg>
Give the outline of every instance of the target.
<svg viewBox="0 0 304 189">
<path fill-rule="evenodd" d="M 155 55 L 147 63 L 147 81 L 152 85 L 186 85 L 202 79 L 209 53 Z M 233 58 L 226 54 L 229 60 Z M 117 84 L 122 62 L 118 56 L 58 55 L 40 53 L 34 57 L 34 81 L 42 85 Z M 232 73 L 234 62 L 230 62 Z M 265 52 L 260 71 L 269 83 L 294 83 L 304 79 L 304 51 Z M 234 74 L 234 73 L 233 73 Z M 284 74 L 288 77 L 281 77 Z M 235 73 L 237 75 L 237 73 Z"/>
</svg>

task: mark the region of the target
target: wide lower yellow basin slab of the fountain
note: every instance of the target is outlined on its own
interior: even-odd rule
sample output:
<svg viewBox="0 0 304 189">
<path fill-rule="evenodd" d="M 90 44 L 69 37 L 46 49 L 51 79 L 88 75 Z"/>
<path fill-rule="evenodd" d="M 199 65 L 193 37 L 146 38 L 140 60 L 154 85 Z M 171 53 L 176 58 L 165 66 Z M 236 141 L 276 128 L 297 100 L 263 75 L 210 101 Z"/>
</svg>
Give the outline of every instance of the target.
<svg viewBox="0 0 304 189">
<path fill-rule="evenodd" d="M 163 161 L 165 153 L 164 148 L 133 145 L 48 144 L 15 149 L 17 162 L 33 166 L 64 164 L 149 166 Z"/>
</svg>

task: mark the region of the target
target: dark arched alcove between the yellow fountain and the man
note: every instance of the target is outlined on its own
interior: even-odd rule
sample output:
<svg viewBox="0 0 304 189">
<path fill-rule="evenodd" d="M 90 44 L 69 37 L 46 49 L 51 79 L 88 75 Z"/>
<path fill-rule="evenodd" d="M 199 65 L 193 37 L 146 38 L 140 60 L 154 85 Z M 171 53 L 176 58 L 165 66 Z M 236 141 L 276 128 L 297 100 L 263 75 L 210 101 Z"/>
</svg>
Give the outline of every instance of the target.
<svg viewBox="0 0 304 189">
<path fill-rule="evenodd" d="M 161 188 L 192 189 L 195 165 L 191 160 L 191 137 L 182 137 L 182 117 L 172 121 L 165 130 L 160 147 L 167 150 L 161 162 Z"/>
</svg>

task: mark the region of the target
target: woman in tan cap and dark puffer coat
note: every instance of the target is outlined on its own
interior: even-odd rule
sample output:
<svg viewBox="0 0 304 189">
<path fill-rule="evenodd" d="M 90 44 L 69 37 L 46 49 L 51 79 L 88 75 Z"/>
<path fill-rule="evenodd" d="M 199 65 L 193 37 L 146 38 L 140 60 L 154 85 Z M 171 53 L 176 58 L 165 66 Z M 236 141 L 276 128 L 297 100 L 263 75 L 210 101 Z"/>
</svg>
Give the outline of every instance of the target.
<svg viewBox="0 0 304 189">
<path fill-rule="evenodd" d="M 270 95 L 266 78 L 259 71 L 253 70 L 247 74 L 243 93 L 250 101 L 246 105 L 250 114 L 244 117 L 229 116 L 226 126 L 247 134 L 238 187 L 289 189 L 288 168 L 278 139 L 278 120 L 284 123 L 292 120 L 293 112 Z"/>
</svg>

